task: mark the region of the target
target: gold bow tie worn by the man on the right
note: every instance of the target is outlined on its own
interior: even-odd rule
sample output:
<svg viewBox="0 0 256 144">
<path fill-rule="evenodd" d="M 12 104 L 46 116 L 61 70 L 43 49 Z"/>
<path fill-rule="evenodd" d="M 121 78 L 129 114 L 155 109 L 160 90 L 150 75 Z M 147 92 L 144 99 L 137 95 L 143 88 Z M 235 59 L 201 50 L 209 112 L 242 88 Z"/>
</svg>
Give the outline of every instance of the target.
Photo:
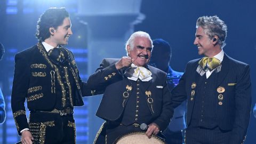
<svg viewBox="0 0 256 144">
<path fill-rule="evenodd" d="M 212 71 L 213 69 L 217 68 L 221 62 L 217 58 L 204 57 L 198 62 L 198 64 L 205 71 L 207 71 L 207 69 Z"/>
</svg>

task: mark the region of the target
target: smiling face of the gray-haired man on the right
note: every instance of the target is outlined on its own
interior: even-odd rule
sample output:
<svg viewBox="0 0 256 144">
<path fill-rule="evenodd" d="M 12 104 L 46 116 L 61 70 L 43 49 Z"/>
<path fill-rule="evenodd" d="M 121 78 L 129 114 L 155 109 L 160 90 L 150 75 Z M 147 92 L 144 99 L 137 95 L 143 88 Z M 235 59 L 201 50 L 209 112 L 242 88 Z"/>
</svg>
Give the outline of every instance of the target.
<svg viewBox="0 0 256 144">
<path fill-rule="evenodd" d="M 205 55 L 206 57 L 213 57 L 218 54 L 221 49 L 215 47 L 216 41 L 213 42 L 213 39 L 210 39 L 208 35 L 204 33 L 202 27 L 196 29 L 196 38 L 194 44 L 197 46 L 198 54 Z"/>
</svg>

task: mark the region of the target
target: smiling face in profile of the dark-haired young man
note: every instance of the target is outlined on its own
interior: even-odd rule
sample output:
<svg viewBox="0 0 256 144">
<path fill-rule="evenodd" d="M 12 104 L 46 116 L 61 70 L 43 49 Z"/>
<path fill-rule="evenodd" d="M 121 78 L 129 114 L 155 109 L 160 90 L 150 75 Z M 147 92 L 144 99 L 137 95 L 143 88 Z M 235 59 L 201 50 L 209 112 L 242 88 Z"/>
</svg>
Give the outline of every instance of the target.
<svg viewBox="0 0 256 144">
<path fill-rule="evenodd" d="M 51 40 L 56 45 L 66 45 L 68 44 L 68 38 L 72 35 L 71 22 L 69 18 L 65 18 L 61 26 L 57 29 L 49 29 L 52 34 Z"/>
</svg>

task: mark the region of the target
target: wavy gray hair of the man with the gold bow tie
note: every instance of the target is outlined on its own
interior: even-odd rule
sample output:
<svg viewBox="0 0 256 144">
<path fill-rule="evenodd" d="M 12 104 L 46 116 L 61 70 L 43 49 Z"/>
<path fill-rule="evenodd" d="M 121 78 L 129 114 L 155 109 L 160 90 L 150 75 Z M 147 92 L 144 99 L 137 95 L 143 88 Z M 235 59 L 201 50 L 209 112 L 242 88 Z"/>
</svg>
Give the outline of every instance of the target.
<svg viewBox="0 0 256 144">
<path fill-rule="evenodd" d="M 204 33 L 212 39 L 214 36 L 218 36 L 218 43 L 221 45 L 221 49 L 226 45 L 225 40 L 227 37 L 227 25 L 217 15 L 208 17 L 199 17 L 196 21 L 196 28 L 202 27 Z"/>
</svg>

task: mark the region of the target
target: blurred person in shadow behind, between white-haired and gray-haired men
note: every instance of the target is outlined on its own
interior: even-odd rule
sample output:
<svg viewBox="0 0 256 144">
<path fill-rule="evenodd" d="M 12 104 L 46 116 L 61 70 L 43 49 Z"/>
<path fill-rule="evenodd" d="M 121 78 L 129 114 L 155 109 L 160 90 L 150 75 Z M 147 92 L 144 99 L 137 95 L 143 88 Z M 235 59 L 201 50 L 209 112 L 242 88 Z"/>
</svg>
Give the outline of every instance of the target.
<svg viewBox="0 0 256 144">
<path fill-rule="evenodd" d="M 150 65 L 157 67 L 167 73 L 167 83 L 169 89 L 172 90 L 179 83 L 183 73 L 174 71 L 169 65 L 172 57 L 172 49 L 168 42 L 163 39 L 155 39 L 153 41 L 154 49 L 150 59 Z M 174 115 L 167 129 L 164 131 L 167 143 L 182 143 L 182 131 L 186 128 L 185 121 L 186 102 L 174 109 Z"/>
</svg>

